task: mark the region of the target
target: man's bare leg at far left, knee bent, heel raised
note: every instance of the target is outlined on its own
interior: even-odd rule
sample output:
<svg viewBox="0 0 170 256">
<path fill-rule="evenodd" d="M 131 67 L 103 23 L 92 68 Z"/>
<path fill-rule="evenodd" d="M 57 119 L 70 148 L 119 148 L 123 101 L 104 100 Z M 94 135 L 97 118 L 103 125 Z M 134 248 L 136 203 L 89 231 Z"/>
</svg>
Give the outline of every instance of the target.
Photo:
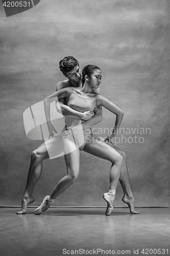
<svg viewBox="0 0 170 256">
<path fill-rule="evenodd" d="M 42 161 L 46 158 L 49 158 L 49 156 L 44 142 L 32 152 L 27 185 L 21 202 L 22 208 L 17 212 L 17 214 L 26 214 L 28 205 L 34 202 L 34 198 L 32 196 L 33 190 L 37 181 L 41 177 Z"/>
</svg>

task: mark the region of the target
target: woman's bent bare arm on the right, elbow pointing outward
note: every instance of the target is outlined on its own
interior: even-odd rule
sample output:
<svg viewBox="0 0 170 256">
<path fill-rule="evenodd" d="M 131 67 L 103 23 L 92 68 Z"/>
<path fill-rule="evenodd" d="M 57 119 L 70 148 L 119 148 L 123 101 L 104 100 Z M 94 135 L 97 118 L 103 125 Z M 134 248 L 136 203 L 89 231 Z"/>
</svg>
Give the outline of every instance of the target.
<svg viewBox="0 0 170 256">
<path fill-rule="evenodd" d="M 108 99 L 106 99 L 101 95 L 96 96 L 96 105 L 102 105 L 104 106 L 104 108 L 106 108 L 107 110 L 111 111 L 113 114 L 116 115 L 116 121 L 113 127 L 112 134 L 108 136 L 108 139 L 110 140 L 116 135 L 119 129 L 120 123 L 122 122 L 124 112 L 120 110 L 118 106 L 116 106 L 115 104 L 113 104 L 112 102 L 110 102 Z"/>
</svg>

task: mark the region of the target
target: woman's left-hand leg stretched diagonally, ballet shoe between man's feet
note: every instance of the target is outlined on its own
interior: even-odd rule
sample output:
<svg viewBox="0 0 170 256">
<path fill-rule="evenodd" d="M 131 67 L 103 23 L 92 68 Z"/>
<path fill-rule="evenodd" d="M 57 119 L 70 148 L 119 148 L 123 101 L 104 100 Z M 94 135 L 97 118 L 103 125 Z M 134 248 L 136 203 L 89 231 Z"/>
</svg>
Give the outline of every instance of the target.
<svg viewBox="0 0 170 256">
<path fill-rule="evenodd" d="M 42 204 L 34 211 L 36 215 L 45 212 L 54 202 L 54 200 L 66 190 L 79 176 L 80 169 L 80 151 L 76 142 L 71 136 L 64 138 L 64 154 L 67 168 L 67 175 L 64 176 L 53 189 L 50 196 L 43 199 Z"/>
</svg>

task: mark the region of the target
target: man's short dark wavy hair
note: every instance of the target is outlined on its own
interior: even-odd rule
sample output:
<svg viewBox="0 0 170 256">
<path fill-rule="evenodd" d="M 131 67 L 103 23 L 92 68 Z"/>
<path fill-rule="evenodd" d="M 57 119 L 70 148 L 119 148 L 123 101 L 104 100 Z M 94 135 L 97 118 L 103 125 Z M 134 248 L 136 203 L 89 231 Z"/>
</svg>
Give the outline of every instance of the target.
<svg viewBox="0 0 170 256">
<path fill-rule="evenodd" d="M 67 72 L 74 69 L 77 65 L 79 66 L 78 60 L 75 59 L 73 56 L 68 56 L 60 60 L 59 69 L 64 75 L 66 75 Z"/>
</svg>

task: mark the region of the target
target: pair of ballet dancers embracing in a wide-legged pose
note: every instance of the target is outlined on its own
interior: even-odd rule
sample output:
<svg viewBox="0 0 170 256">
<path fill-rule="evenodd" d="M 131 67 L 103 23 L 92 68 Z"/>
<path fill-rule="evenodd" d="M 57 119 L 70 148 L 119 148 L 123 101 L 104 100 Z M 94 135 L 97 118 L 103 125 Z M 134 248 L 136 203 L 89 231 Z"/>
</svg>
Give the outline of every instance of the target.
<svg viewBox="0 0 170 256">
<path fill-rule="evenodd" d="M 50 121 L 49 110 L 51 102 L 59 100 L 60 106 L 57 106 L 57 108 L 61 108 L 62 114 L 65 116 L 66 131 L 62 133 L 62 141 L 67 175 L 58 182 L 51 195 L 43 199 L 42 204 L 35 210 L 35 214 L 38 215 L 45 212 L 56 197 L 78 178 L 81 150 L 107 159 L 112 163 L 110 189 L 108 193 L 103 195 L 108 204 L 106 215 L 110 215 L 113 210 L 118 180 L 124 189 L 123 201 L 128 204 L 131 214 L 138 214 L 139 212 L 135 211 L 134 208 L 134 197 L 129 184 L 126 155 L 111 142 L 122 121 L 123 111 L 99 94 L 98 88 L 102 77 L 100 68 L 88 65 L 83 69 L 81 77 L 79 62 L 74 57 L 63 58 L 59 65 L 67 80 L 59 82 L 57 84 L 57 92 L 44 100 L 44 109 L 50 137 L 53 136 L 53 132 L 56 132 Z M 103 141 L 95 138 L 91 130 L 89 130 L 89 126 L 101 121 L 101 106 L 116 115 L 113 133 Z M 22 198 L 22 209 L 17 214 L 26 214 L 28 205 L 34 202 L 32 194 L 35 184 L 42 173 L 42 161 L 50 157 L 50 154 L 48 154 L 49 148 L 53 148 L 54 144 L 57 147 L 57 140 L 57 136 L 51 137 L 37 150 L 33 151 L 27 186 Z"/>
</svg>

